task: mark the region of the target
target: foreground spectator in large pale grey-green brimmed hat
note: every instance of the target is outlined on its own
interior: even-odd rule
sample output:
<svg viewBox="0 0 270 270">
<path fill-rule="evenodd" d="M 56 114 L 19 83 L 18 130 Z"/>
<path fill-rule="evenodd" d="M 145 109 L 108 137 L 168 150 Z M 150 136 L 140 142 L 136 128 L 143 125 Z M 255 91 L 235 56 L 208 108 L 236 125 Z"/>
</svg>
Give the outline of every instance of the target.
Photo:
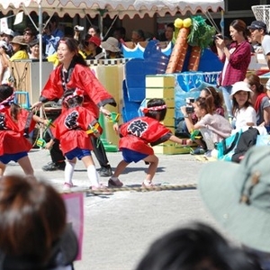
<svg viewBox="0 0 270 270">
<path fill-rule="evenodd" d="M 270 269 L 270 148 L 252 147 L 240 164 L 211 162 L 199 175 L 202 200 L 220 225 Z"/>
</svg>

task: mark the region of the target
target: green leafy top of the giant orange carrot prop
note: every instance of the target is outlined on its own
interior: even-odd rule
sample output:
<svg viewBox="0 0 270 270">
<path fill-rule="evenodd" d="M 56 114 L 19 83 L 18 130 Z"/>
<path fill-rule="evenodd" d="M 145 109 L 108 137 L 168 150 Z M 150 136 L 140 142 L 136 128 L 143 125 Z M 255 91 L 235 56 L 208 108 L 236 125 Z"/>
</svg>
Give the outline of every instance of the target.
<svg viewBox="0 0 270 270">
<path fill-rule="evenodd" d="M 216 30 L 205 23 L 202 16 L 193 16 L 192 20 L 193 24 L 187 42 L 191 46 L 199 46 L 201 49 L 205 49 L 211 44 L 212 36 L 216 33 Z"/>
</svg>

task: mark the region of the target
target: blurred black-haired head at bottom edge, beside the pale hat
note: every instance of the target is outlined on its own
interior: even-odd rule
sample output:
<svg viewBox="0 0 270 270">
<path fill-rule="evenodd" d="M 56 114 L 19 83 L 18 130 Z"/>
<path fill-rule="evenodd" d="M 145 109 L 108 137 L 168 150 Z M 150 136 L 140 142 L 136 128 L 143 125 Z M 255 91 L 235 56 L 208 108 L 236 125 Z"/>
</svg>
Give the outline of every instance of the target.
<svg viewBox="0 0 270 270">
<path fill-rule="evenodd" d="M 229 245 L 202 223 L 188 224 L 157 238 L 136 270 L 260 270 L 256 257 Z"/>
</svg>

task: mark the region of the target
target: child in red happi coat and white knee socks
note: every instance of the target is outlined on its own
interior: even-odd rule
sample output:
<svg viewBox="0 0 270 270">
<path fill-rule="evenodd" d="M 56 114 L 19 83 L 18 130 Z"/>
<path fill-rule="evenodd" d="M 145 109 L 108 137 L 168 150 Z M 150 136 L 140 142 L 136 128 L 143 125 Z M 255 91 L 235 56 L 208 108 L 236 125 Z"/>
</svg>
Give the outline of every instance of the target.
<svg viewBox="0 0 270 270">
<path fill-rule="evenodd" d="M 87 169 L 87 176 L 92 184 L 93 190 L 100 189 L 103 186 L 99 184 L 98 176 L 94 166 L 94 160 L 91 156 L 93 149 L 89 136 L 100 136 L 101 130 L 94 130 L 94 126 L 98 124 L 92 112 L 82 106 L 84 101 L 84 91 L 76 88 L 68 90 L 64 94 L 63 106 L 67 108 L 62 112 L 56 121 L 55 128 L 51 132 L 55 139 L 60 141 L 60 146 L 67 163 L 65 167 L 65 184 L 64 191 L 69 190 L 72 186 L 72 176 L 76 166 L 76 158 L 81 159 Z M 93 129 L 92 135 L 86 133 L 87 130 Z M 50 148 L 53 141 L 46 145 Z"/>
</svg>

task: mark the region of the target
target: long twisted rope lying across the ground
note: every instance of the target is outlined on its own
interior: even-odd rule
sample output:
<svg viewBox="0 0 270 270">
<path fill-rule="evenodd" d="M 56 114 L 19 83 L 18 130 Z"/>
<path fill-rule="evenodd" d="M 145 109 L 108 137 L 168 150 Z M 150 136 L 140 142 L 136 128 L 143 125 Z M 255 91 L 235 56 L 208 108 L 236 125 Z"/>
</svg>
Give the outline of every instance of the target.
<svg viewBox="0 0 270 270">
<path fill-rule="evenodd" d="M 166 185 L 155 185 L 149 188 L 141 186 L 122 186 L 116 188 L 101 188 L 97 190 L 92 189 L 83 189 L 83 190 L 74 190 L 67 191 L 62 193 L 93 193 L 93 194 L 109 194 L 115 192 L 153 192 L 153 191 L 166 191 L 166 190 L 189 190 L 196 189 L 197 184 L 166 184 Z"/>
</svg>

